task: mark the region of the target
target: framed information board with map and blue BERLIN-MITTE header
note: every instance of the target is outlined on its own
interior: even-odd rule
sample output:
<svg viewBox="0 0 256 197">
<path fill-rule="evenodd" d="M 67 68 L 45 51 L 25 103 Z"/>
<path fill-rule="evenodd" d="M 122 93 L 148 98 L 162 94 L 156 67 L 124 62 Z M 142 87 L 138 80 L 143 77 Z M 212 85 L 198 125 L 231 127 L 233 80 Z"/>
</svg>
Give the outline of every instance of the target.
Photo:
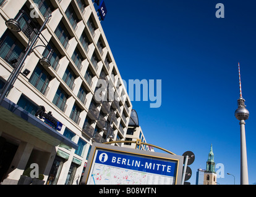
<svg viewBox="0 0 256 197">
<path fill-rule="evenodd" d="M 183 158 L 93 143 L 81 184 L 180 185 Z"/>
</svg>

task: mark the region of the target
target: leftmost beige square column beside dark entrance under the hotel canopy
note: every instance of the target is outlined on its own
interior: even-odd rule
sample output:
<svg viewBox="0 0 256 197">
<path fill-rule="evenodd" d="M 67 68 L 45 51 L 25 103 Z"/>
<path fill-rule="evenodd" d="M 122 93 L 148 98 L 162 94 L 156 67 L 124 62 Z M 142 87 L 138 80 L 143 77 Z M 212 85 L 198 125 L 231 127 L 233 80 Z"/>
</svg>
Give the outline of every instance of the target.
<svg viewBox="0 0 256 197">
<path fill-rule="evenodd" d="M 20 175 L 25 170 L 32 150 L 33 145 L 27 142 L 20 142 L 19 148 L 7 172 L 7 178 L 2 182 L 3 185 L 16 185 L 19 182 Z"/>
</svg>

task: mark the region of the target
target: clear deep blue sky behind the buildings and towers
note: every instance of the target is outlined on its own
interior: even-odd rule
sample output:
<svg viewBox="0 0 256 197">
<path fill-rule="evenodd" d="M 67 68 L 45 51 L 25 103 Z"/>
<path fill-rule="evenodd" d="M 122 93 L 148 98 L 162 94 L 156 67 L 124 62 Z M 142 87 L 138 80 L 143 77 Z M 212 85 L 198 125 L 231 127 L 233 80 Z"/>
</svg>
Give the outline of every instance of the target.
<svg viewBox="0 0 256 197">
<path fill-rule="evenodd" d="M 216 4 L 224 18 L 216 18 Z M 249 183 L 256 182 L 256 2 L 105 0 L 101 22 L 123 79 L 161 79 L 162 105 L 132 102 L 148 143 L 182 155 L 195 153 L 192 178 L 205 169 L 210 145 L 224 164 L 222 184 L 240 183 L 240 129 L 234 116 L 242 93 Z"/>
</svg>

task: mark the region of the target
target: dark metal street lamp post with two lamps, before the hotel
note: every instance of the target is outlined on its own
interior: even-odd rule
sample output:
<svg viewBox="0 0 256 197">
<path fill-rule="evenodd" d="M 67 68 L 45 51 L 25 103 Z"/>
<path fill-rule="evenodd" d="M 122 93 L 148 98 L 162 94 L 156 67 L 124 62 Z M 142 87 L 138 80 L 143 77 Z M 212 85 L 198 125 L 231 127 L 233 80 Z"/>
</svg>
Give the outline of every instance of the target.
<svg viewBox="0 0 256 197">
<path fill-rule="evenodd" d="M 6 26 L 7 28 L 9 28 L 9 30 L 14 31 L 14 32 L 19 32 L 21 31 L 20 28 L 20 23 L 19 23 L 19 19 L 26 14 L 23 10 L 19 11 L 19 15 L 17 15 L 16 18 L 11 18 L 9 20 L 6 21 Z M 27 15 L 27 14 L 26 14 Z M 28 16 L 29 17 L 29 16 Z M 28 57 L 28 55 L 30 55 L 30 53 L 32 52 L 33 49 L 35 49 L 35 43 L 38 40 L 41 31 L 43 31 L 43 28 L 45 28 L 46 23 L 48 23 L 49 18 L 51 18 L 51 15 L 49 15 L 45 22 L 43 23 L 43 25 L 41 26 L 40 30 L 38 32 L 36 32 L 36 36 L 35 38 L 32 39 L 31 44 L 29 44 L 28 42 L 28 46 L 25 49 L 25 54 L 23 55 L 22 60 L 19 62 L 19 65 L 17 65 L 14 68 L 14 71 L 12 71 L 11 75 L 9 76 L 9 78 L 7 79 L 6 84 L 4 85 L 4 88 L 2 90 L 1 96 L 0 96 L 0 104 L 2 103 L 2 100 L 4 100 L 4 97 L 6 97 L 7 92 L 11 89 L 11 86 L 14 84 L 15 80 L 18 78 L 20 70 L 22 70 L 23 67 L 23 63 L 25 62 L 26 58 Z M 41 46 L 41 45 L 40 45 Z M 44 46 L 46 47 L 46 46 Z M 53 54 L 53 50 L 50 50 L 49 54 L 47 55 L 47 57 L 43 57 L 40 59 L 40 63 L 43 66 L 51 66 L 49 57 L 51 57 L 51 55 Z"/>
</svg>

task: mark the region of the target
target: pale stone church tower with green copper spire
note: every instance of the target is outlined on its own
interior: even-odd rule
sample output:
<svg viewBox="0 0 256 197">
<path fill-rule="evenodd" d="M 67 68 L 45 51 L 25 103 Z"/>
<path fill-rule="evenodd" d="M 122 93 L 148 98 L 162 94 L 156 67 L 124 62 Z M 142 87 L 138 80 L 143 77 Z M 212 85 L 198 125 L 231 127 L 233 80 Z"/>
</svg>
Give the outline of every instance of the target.
<svg viewBox="0 0 256 197">
<path fill-rule="evenodd" d="M 213 154 L 213 145 L 211 144 L 211 150 L 208 154 L 207 169 L 203 177 L 203 185 L 216 185 L 217 175 L 215 172 L 215 162 Z"/>
</svg>

